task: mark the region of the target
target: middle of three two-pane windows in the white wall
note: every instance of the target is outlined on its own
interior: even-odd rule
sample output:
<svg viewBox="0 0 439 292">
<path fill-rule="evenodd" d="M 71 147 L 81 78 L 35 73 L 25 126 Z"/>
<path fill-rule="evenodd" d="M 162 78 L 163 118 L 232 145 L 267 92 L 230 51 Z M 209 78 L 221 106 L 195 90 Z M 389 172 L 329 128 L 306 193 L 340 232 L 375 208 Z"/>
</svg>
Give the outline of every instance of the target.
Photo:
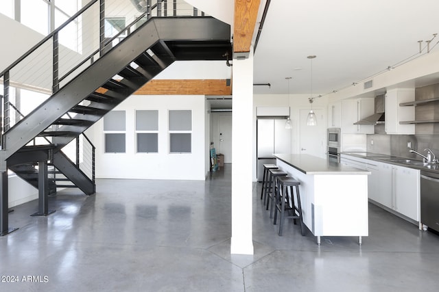
<svg viewBox="0 0 439 292">
<path fill-rule="evenodd" d="M 136 111 L 137 152 L 158 153 L 158 111 Z"/>
</svg>

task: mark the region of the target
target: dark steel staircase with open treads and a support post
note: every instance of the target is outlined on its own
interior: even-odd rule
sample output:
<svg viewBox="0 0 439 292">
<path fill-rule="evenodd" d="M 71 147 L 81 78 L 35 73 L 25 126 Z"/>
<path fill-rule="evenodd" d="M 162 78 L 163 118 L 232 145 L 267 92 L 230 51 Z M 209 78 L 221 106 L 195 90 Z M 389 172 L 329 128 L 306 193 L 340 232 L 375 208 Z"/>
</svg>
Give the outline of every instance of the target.
<svg viewBox="0 0 439 292">
<path fill-rule="evenodd" d="M 84 174 L 61 149 L 172 62 L 225 60 L 226 53 L 231 55 L 230 26 L 215 18 L 148 19 L 115 47 L 102 47 L 99 59 L 67 84 L 60 88 L 54 86 L 54 93 L 45 102 L 4 131 L 0 169 L 9 168 L 38 188 L 40 200 L 36 215 L 50 213 L 47 195 L 56 191 L 57 180 L 58 185 L 75 186 L 86 195 L 94 194 L 94 179 Z M 3 77 L 5 88 L 7 73 Z M 36 137 L 44 137 L 49 142 L 29 145 Z M 58 178 L 54 174 L 58 174 Z M 7 202 L 7 196 L 7 191 L 2 191 L 1 202 L 5 202 L 5 198 Z M 9 232 L 7 204 L 4 205 L 0 211 L 2 235 Z"/>
</svg>

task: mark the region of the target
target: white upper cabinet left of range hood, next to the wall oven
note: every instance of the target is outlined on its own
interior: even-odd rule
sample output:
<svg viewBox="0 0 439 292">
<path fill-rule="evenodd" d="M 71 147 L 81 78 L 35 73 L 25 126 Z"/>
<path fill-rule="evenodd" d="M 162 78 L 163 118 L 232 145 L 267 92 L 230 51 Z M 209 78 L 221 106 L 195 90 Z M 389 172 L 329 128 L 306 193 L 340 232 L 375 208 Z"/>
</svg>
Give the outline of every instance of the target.
<svg viewBox="0 0 439 292">
<path fill-rule="evenodd" d="M 372 124 L 354 124 L 359 120 L 372 116 L 375 112 L 374 98 L 355 98 L 342 101 L 342 133 L 373 134 Z"/>
</svg>

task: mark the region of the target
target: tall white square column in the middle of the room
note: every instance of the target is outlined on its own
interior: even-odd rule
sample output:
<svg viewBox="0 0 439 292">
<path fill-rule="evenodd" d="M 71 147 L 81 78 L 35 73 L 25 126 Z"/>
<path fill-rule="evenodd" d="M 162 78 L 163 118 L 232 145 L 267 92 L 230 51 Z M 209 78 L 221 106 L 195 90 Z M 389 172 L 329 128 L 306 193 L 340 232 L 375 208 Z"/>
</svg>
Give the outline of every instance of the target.
<svg viewBox="0 0 439 292">
<path fill-rule="evenodd" d="M 252 50 L 252 48 L 251 48 Z M 252 133 L 253 53 L 233 59 L 232 239 L 230 253 L 253 254 Z"/>
</svg>

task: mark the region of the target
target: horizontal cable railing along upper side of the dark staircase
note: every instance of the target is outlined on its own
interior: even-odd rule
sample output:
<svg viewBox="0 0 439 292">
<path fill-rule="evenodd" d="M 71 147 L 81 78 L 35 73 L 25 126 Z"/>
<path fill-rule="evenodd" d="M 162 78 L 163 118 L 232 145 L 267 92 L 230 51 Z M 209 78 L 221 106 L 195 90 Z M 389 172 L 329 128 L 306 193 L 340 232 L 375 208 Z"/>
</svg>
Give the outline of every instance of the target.
<svg viewBox="0 0 439 292">
<path fill-rule="evenodd" d="M 204 13 L 180 0 L 91 0 L 0 72 L 0 89 L 3 89 L 1 134 L 149 18 L 173 16 L 204 16 Z M 44 96 L 43 99 L 40 96 Z M 23 105 L 26 110 L 22 109 Z M 5 148 L 3 138 L 0 143 L 0 147 Z"/>
</svg>

